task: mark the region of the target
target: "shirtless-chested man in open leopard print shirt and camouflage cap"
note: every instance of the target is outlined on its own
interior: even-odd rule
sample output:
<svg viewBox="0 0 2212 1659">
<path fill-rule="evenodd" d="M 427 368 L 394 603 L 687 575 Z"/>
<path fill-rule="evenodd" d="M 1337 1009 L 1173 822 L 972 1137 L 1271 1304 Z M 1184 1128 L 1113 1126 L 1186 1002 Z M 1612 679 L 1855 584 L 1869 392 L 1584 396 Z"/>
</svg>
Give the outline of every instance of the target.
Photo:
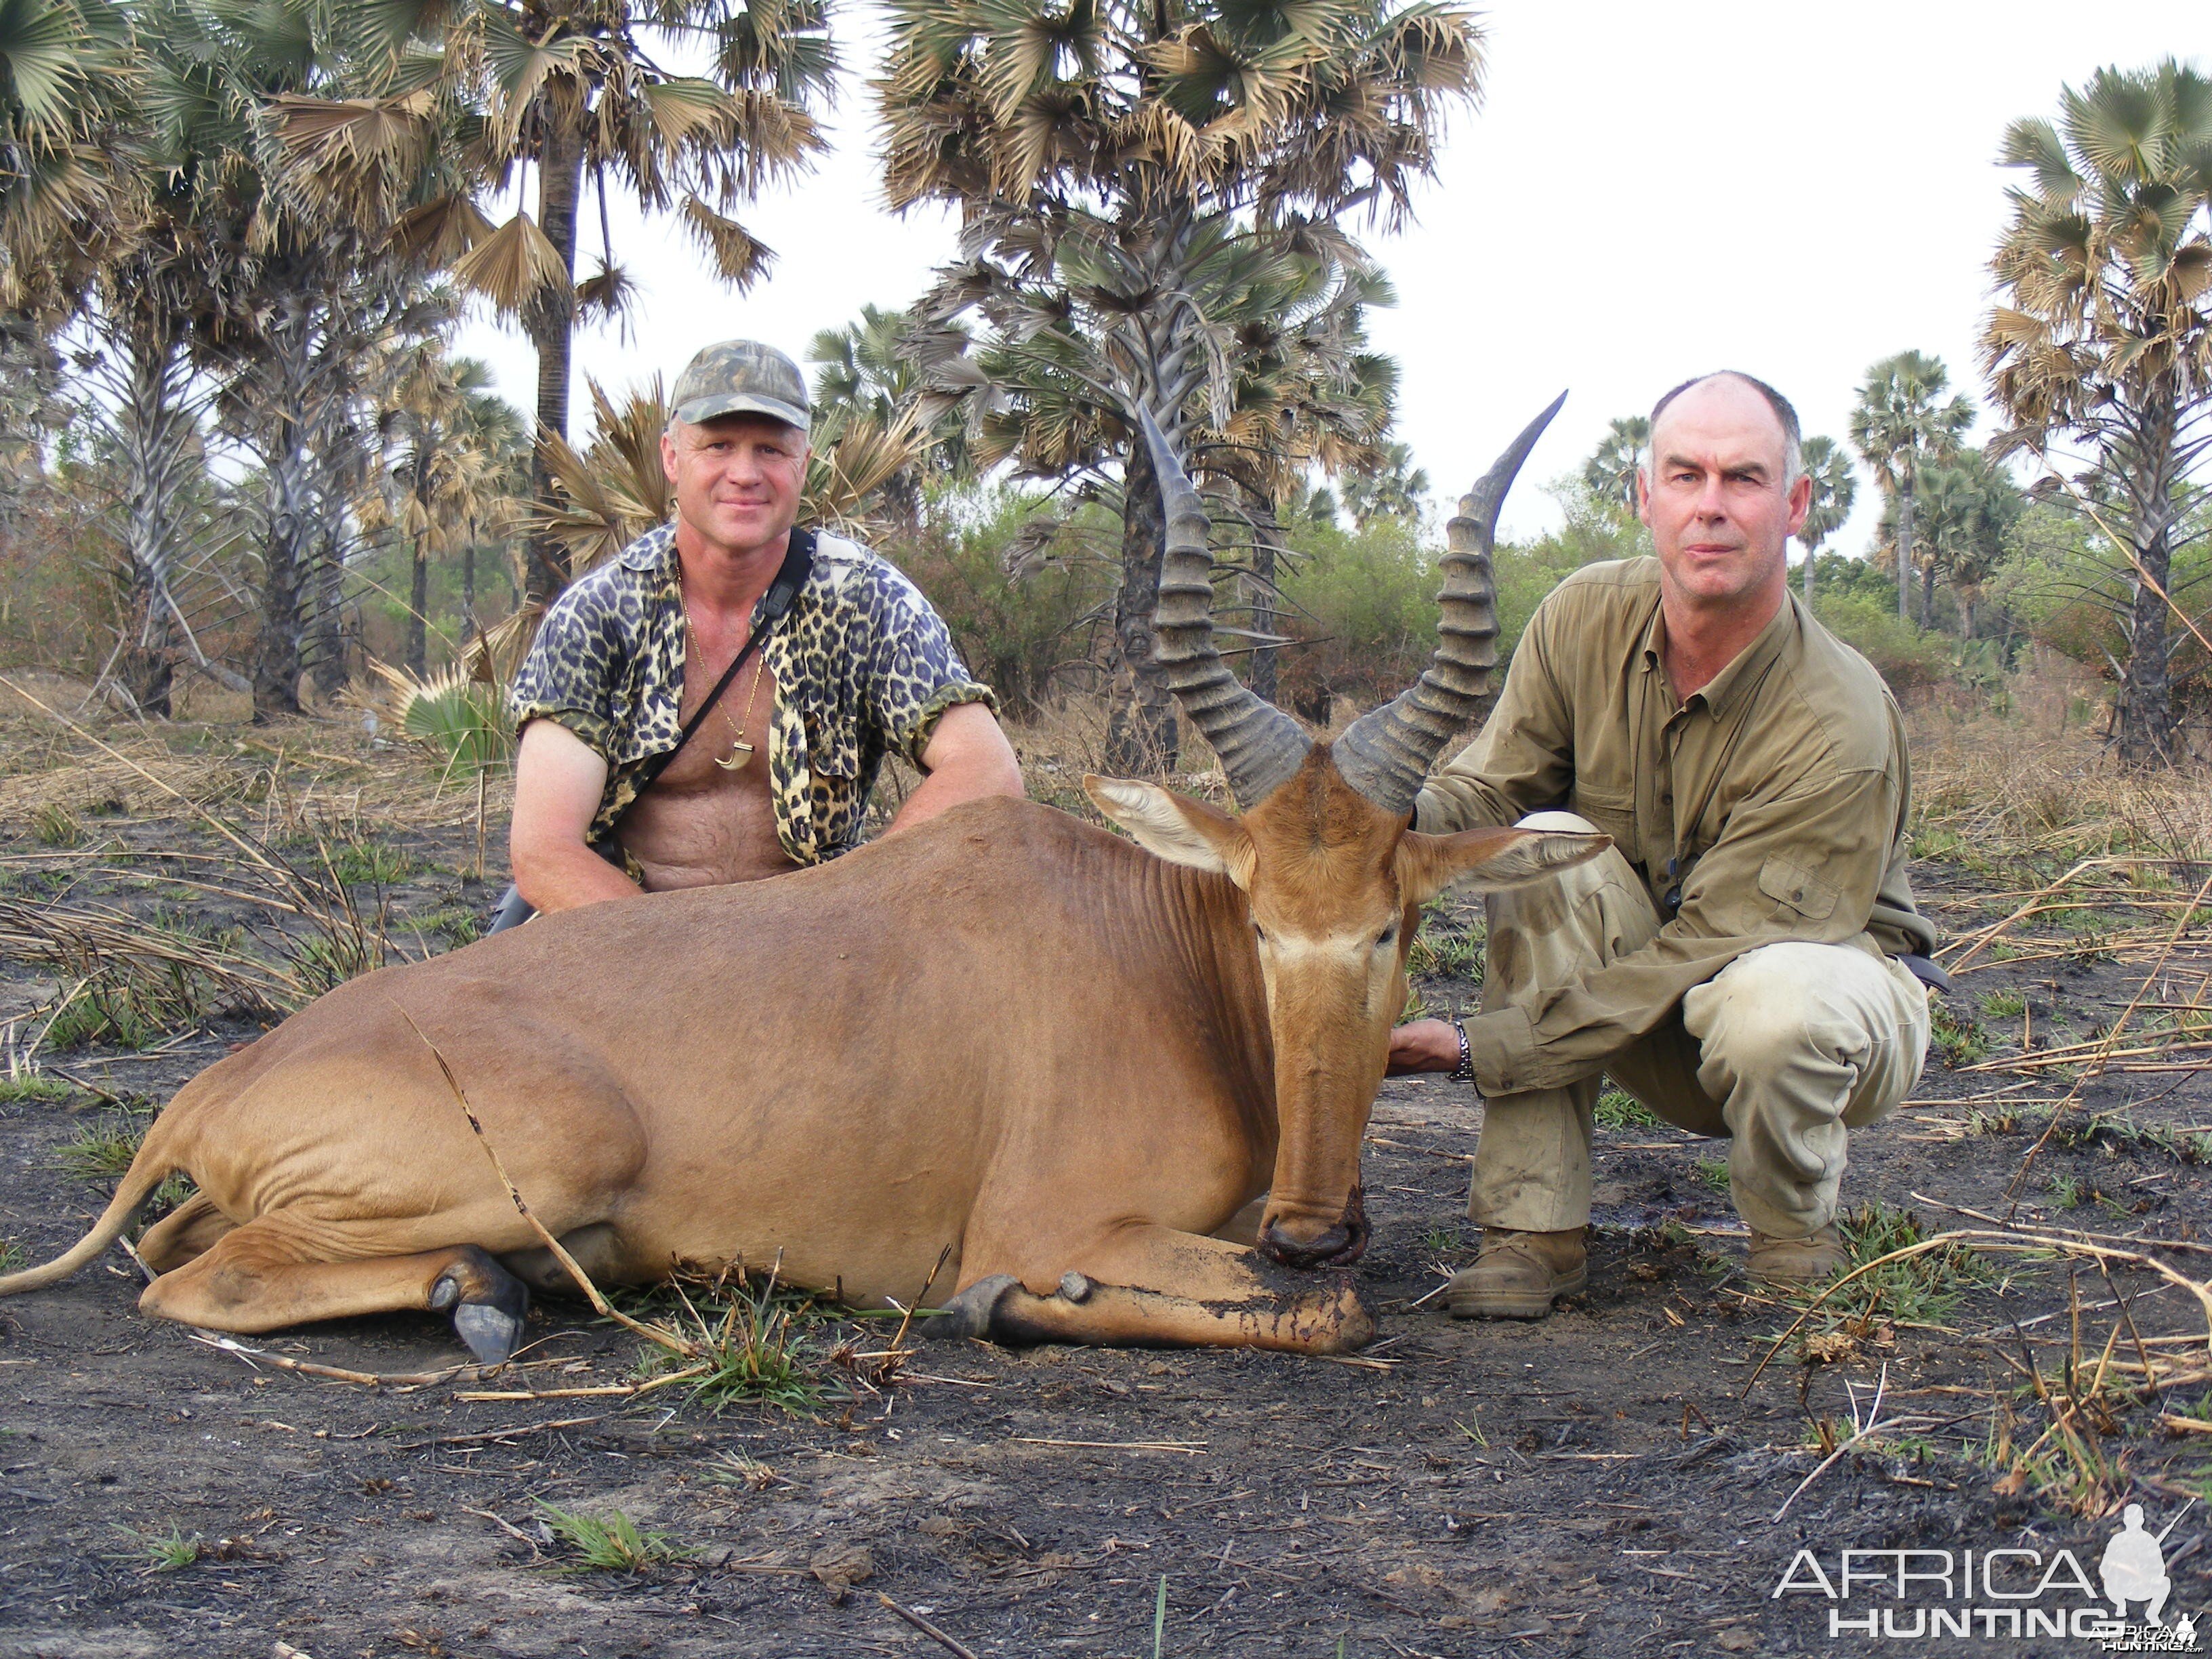
<svg viewBox="0 0 2212 1659">
<path fill-rule="evenodd" d="M 889 832 L 1022 774 L 945 622 L 885 560 L 836 535 L 790 613 L 675 761 L 637 792 L 743 648 L 783 564 L 807 469 L 799 367 L 706 347 L 677 380 L 661 465 L 677 515 L 573 582 L 515 679 L 509 852 L 540 911 L 639 889 L 754 880 L 849 852 L 894 745 L 925 774 Z M 624 867 L 591 843 L 622 821 Z"/>
</svg>

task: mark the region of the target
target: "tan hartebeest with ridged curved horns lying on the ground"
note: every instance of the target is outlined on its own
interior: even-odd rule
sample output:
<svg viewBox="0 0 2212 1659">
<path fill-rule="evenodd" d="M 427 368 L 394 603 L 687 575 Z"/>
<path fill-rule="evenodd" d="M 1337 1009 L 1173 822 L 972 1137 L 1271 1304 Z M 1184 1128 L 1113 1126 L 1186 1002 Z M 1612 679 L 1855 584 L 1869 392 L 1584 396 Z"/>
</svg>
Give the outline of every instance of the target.
<svg viewBox="0 0 2212 1659">
<path fill-rule="evenodd" d="M 1367 1243 L 1360 1137 L 1420 905 L 1606 845 L 1407 830 L 1489 688 L 1498 504 L 1548 418 L 1451 524 L 1420 684 L 1334 750 L 1217 655 L 1199 495 L 1148 429 L 1161 661 L 1241 818 L 1084 779 L 1135 845 L 978 801 L 816 869 L 354 980 L 179 1091 L 93 1232 L 0 1294 L 93 1261 L 186 1170 L 197 1197 L 139 1245 L 146 1312 L 265 1332 L 451 1310 L 498 1363 L 522 1281 L 562 1274 L 489 1146 L 599 1281 L 781 1261 L 863 1305 L 933 1279 L 940 1327 L 1000 1340 L 1365 1343 L 1358 1287 L 1312 1270 Z M 1256 1248 L 1221 1237 L 1261 1194 Z"/>
</svg>

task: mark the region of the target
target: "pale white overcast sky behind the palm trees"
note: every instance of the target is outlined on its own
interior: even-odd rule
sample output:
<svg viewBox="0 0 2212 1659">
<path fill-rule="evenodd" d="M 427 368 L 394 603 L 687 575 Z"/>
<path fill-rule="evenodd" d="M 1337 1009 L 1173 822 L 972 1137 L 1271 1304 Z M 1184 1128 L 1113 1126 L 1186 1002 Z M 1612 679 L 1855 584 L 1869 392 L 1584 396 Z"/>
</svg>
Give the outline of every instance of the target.
<svg viewBox="0 0 2212 1659">
<path fill-rule="evenodd" d="M 803 356 L 860 305 L 905 305 L 953 252 L 953 221 L 883 208 L 874 7 L 841 0 L 847 75 L 832 153 L 739 215 L 776 265 L 750 294 L 706 274 L 670 221 L 615 217 L 617 259 L 644 283 L 630 341 L 577 341 L 611 389 L 675 378 L 703 343 L 754 336 Z M 1579 467 L 1619 414 L 1690 374 L 1741 367 L 1778 385 L 1805 431 L 1838 440 L 1869 363 L 1918 347 L 1982 400 L 1975 334 L 2008 175 L 2004 124 L 2048 115 L 2101 64 L 2212 58 L 2205 0 L 1863 0 L 1851 7 L 1498 0 L 1482 9 L 1482 111 L 1455 122 L 1418 223 L 1369 234 L 1398 285 L 1371 321 L 1405 367 L 1398 434 L 1438 493 L 1460 493 L 1562 387 L 1504 529 L 1557 522 L 1540 484 Z M 597 250 L 586 212 L 588 272 Z M 460 349 L 531 407 L 513 330 L 478 323 Z M 1860 551 L 1871 480 L 1834 542 Z"/>
</svg>

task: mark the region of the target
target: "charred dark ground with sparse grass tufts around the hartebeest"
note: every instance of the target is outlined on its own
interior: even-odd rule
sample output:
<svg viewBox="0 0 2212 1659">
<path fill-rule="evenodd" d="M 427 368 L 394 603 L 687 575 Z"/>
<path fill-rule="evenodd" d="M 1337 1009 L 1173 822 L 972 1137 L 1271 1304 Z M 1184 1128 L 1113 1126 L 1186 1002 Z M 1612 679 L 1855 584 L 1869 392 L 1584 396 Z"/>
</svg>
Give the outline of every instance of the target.
<svg viewBox="0 0 2212 1659">
<path fill-rule="evenodd" d="M 135 805 L 128 790 L 66 787 L 88 790 L 75 803 L 77 845 L 42 845 L 20 814 L 0 830 L 13 832 L 0 845 L 7 898 L 102 898 L 204 929 L 252 920 L 219 896 L 164 885 L 181 865 L 133 856 L 210 847 L 199 827 Z M 349 834 L 405 854 L 383 874 L 392 933 L 409 951 L 398 918 L 442 918 L 462 933 L 453 914 L 489 907 L 491 891 L 462 874 L 467 814 L 405 830 L 363 818 L 358 796 L 352 810 Z M 66 838 L 66 825 L 46 830 Z M 2011 900 L 1991 894 L 2020 885 L 2017 872 L 1947 865 L 1922 880 L 1953 931 L 2002 916 Z M 374 909 L 369 887 L 358 891 Z M 1442 971 L 1471 967 L 1451 931 L 1440 918 L 1447 949 L 1422 982 L 1431 1006 L 1473 995 Z M 431 929 L 422 938 L 447 942 Z M 2053 933 L 2035 951 L 2055 949 L 2048 940 L 2068 945 Z M 2064 1042 L 2135 995 L 2146 951 L 2070 942 L 2070 956 L 2028 951 L 1962 982 L 1947 1031 L 1960 1064 L 2017 1048 L 2022 1013 L 2006 998 L 2024 1004 L 2037 1042 Z M 2168 1000 L 2183 1000 L 2212 960 L 2183 942 L 2166 967 L 2181 982 Z M 0 1020 L 20 1020 L 18 1044 L 64 989 L 51 967 L 0 960 Z M 86 1157 L 86 1130 L 139 1128 L 254 1029 L 212 1013 L 181 1040 L 139 1033 L 155 1053 L 91 1042 L 42 1055 L 44 1084 L 11 1084 L 0 1237 L 18 1261 L 58 1254 L 100 1210 L 108 1179 L 69 1168 Z M 1997 1091 L 2028 1104 L 1989 1099 Z M 1847 1199 L 1885 1206 L 1869 1225 L 1893 1237 L 1909 1237 L 1893 1212 L 1931 1232 L 1978 1225 L 1942 1206 L 2002 1214 L 2044 1128 L 2035 1102 L 2064 1093 L 2064 1079 L 1931 1057 L 1913 1104 L 1854 1137 Z M 1796 1310 L 1743 1281 L 1741 1232 L 1712 1186 L 1723 1148 L 1648 1124 L 1599 1130 L 1590 1292 L 1535 1325 L 1453 1323 L 1422 1298 L 1471 1256 L 1464 1157 L 1478 1124 L 1451 1084 L 1385 1084 L 1365 1175 L 1376 1237 L 1358 1270 L 1387 1310 L 1385 1334 L 1343 1363 L 927 1345 L 876 1391 L 827 1360 L 856 1327 L 823 1321 L 799 1340 L 825 1400 L 801 1413 L 739 1405 L 717 1416 L 675 1391 L 462 1400 L 465 1389 L 611 1387 L 630 1374 L 637 1338 L 577 1303 L 546 1303 L 533 1312 L 533 1369 L 372 1389 L 257 1369 L 142 1321 L 131 1263 L 111 1254 L 66 1285 L 0 1303 L 0 1652 L 1141 1659 L 1155 1652 L 1161 1582 L 1164 1655 L 1889 1648 L 1832 1637 L 1818 1595 L 1772 1599 L 1796 1551 L 1818 1551 L 1834 1573 L 1840 1548 L 2068 1546 L 2095 1573 L 2117 1528 L 2110 1506 L 2132 1495 L 2157 1531 L 2212 1473 L 2212 1440 L 2159 1427 L 2161 1409 L 2199 1411 L 2212 1387 L 2203 1347 L 2194 1371 L 2205 1383 L 2148 1394 L 2117 1369 L 2130 1354 L 2190 1369 L 2190 1347 L 2159 1338 L 2201 1338 L 2203 1312 L 2126 1263 L 2106 1281 L 2066 1261 L 1984 1254 L 1964 1263 L 1973 1283 L 1953 1301 L 1913 1301 L 1905 1287 L 1854 1318 L 1818 1314 L 1812 1352 L 1792 1338 L 1754 1378 Z M 2177 1135 L 2194 1126 L 2212 1126 L 2212 1091 L 2190 1071 L 2086 1084 L 2022 1181 L 2017 1219 L 2199 1239 L 2212 1201 L 2199 1144 Z M 2192 1276 L 2205 1270 L 2201 1254 L 2161 1254 Z M 2124 1323 L 2115 1290 L 2132 1327 L 2099 1369 Z M 2068 1369 L 2075 1329 L 2081 1360 Z M 883 1334 L 869 1327 L 865 1340 Z M 376 1374 L 462 1358 L 431 1316 L 254 1347 Z M 1885 1376 L 1882 1416 L 1902 1420 L 1845 1451 L 1776 1522 L 1823 1447 L 1849 1440 L 1851 1391 L 1865 1411 Z M 2042 1449 L 2051 1409 L 2035 1387 L 2081 1400 Z M 584 1571 L 542 1526 L 544 1506 L 619 1511 L 690 1555 Z M 2192 1506 L 2166 1540 L 2170 1613 L 2212 1604 L 2208 1526 L 2205 1506 Z M 1860 1590 L 1845 1613 L 1880 1606 L 1905 1604 Z M 2097 1648 L 2002 1628 L 1975 1646 Z"/>
</svg>

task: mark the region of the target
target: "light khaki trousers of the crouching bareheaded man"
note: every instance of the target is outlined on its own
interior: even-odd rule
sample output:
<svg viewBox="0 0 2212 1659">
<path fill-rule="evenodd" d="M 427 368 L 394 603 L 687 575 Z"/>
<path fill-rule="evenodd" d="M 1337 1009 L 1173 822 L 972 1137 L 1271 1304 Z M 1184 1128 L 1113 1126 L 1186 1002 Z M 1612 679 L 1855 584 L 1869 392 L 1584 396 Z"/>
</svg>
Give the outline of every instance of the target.
<svg viewBox="0 0 2212 1659">
<path fill-rule="evenodd" d="M 1531 830 L 1590 830 L 1571 812 Z M 1544 991 L 1648 945 L 1659 916 L 1619 852 L 1489 896 L 1482 1009 Z M 1896 1110 L 1929 1042 L 1927 989 L 1856 945 L 1778 942 L 1694 987 L 1606 1075 L 1659 1117 L 1725 1135 L 1728 1190 L 1759 1232 L 1803 1239 L 1836 1217 L 1845 1130 Z M 1590 1219 L 1590 1108 L 1599 1079 L 1484 1102 L 1467 1214 L 1486 1228 L 1564 1232 Z"/>
</svg>

